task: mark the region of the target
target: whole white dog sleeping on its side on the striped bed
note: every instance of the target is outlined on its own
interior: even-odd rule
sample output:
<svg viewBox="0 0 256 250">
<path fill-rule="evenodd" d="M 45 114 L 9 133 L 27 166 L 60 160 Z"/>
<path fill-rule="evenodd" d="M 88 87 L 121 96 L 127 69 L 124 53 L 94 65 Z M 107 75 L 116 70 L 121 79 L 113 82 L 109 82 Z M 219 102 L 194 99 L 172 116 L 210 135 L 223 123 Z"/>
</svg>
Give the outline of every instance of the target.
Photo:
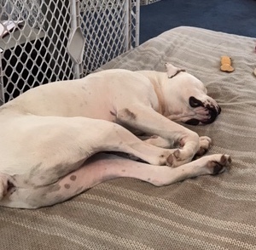
<svg viewBox="0 0 256 250">
<path fill-rule="evenodd" d="M 222 173 L 230 156 L 191 162 L 211 139 L 176 123 L 213 122 L 219 106 L 197 78 L 166 69 L 101 71 L 33 88 L 1 106 L 0 206 L 49 206 L 119 177 L 160 186 Z M 143 141 L 137 132 L 151 137 Z"/>
</svg>

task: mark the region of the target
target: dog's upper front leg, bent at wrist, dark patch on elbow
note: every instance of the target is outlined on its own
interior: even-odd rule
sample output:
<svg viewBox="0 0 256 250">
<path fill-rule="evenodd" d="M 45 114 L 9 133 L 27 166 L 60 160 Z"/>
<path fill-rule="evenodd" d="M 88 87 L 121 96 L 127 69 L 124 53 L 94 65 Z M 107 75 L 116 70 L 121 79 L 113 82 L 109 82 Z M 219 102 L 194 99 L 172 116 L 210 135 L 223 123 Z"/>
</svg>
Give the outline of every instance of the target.
<svg viewBox="0 0 256 250">
<path fill-rule="evenodd" d="M 169 156 L 168 162 L 172 167 L 190 162 L 200 149 L 198 134 L 170 121 L 146 105 L 131 105 L 117 111 L 117 120 L 144 133 L 168 139 L 170 145 L 179 148 Z"/>
</svg>

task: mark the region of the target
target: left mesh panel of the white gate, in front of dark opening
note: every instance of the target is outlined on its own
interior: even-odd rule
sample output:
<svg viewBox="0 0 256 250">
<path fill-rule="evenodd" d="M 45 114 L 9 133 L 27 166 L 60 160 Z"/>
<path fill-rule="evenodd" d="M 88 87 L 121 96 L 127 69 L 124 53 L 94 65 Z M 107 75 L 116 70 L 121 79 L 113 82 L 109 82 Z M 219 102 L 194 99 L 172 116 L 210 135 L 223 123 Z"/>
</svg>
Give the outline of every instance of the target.
<svg viewBox="0 0 256 250">
<path fill-rule="evenodd" d="M 46 82 L 74 77 L 67 53 L 70 1 L 1 1 L 1 100 Z"/>
</svg>

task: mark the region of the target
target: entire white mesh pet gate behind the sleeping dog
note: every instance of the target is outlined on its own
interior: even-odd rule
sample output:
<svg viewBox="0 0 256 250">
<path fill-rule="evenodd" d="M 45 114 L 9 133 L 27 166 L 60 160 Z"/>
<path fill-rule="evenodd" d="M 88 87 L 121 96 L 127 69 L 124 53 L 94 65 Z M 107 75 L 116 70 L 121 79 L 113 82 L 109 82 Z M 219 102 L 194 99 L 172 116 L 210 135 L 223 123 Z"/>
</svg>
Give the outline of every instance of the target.
<svg viewBox="0 0 256 250">
<path fill-rule="evenodd" d="M 0 0 L 0 105 L 138 45 L 137 0 Z"/>
</svg>

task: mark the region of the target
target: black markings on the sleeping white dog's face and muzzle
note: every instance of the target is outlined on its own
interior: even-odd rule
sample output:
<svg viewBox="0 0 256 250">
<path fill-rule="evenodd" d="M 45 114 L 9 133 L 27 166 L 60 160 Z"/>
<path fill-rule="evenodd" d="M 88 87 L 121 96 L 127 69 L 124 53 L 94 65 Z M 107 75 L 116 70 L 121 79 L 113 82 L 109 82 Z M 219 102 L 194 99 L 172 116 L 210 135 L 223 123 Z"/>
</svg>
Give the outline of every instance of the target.
<svg viewBox="0 0 256 250">
<path fill-rule="evenodd" d="M 191 96 L 189 97 L 189 105 L 192 108 L 203 107 L 205 110 L 207 110 L 207 116 L 203 116 L 201 119 L 198 119 L 198 118 L 189 119 L 186 122 L 189 125 L 212 123 L 215 121 L 215 119 L 221 112 L 220 106 L 211 97 L 207 97 L 206 101 L 201 101 L 200 99 L 196 99 L 194 96 Z"/>
</svg>

